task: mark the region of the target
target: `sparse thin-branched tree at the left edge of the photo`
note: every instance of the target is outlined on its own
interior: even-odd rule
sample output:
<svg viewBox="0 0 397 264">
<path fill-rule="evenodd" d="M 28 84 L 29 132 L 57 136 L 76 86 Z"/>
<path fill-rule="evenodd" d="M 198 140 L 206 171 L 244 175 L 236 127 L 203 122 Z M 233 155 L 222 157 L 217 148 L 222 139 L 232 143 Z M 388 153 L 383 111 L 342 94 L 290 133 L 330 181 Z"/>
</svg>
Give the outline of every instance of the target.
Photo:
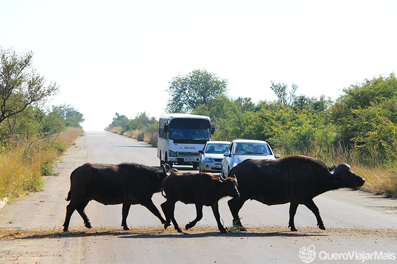
<svg viewBox="0 0 397 264">
<path fill-rule="evenodd" d="M 58 92 L 56 84 L 46 86 L 35 72 L 32 55 L 0 48 L 0 123 Z"/>
</svg>

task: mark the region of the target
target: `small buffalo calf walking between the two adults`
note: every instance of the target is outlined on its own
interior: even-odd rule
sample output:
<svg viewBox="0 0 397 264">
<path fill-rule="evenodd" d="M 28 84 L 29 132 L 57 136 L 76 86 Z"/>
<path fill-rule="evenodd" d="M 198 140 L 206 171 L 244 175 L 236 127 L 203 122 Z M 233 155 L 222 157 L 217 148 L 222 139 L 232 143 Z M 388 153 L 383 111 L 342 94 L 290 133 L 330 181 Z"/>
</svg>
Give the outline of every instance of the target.
<svg viewBox="0 0 397 264">
<path fill-rule="evenodd" d="M 161 193 L 167 201 L 161 204 L 167 228 L 172 221 L 175 230 L 182 233 L 174 217 L 175 203 L 181 201 L 185 204 L 195 204 L 197 216 L 186 225 L 186 230 L 192 228 L 202 218 L 202 206 L 210 206 L 214 213 L 219 231 L 227 233 L 220 222 L 218 210 L 219 199 L 225 196 L 238 197 L 237 181 L 234 178 L 226 179 L 216 177 L 209 173 L 174 172 L 163 180 Z M 164 195 L 165 193 L 165 195 Z"/>
</svg>

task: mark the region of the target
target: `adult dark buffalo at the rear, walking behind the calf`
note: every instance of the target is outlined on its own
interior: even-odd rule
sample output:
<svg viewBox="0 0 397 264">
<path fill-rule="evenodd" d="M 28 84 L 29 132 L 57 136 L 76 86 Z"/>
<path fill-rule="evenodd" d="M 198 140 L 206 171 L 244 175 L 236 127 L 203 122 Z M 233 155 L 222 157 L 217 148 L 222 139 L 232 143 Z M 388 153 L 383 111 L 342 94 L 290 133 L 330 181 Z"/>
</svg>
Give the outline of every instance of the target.
<svg viewBox="0 0 397 264">
<path fill-rule="evenodd" d="M 85 163 L 70 174 L 70 191 L 66 201 L 64 231 L 68 231 L 69 221 L 74 210 L 81 215 L 84 225 L 91 228 L 84 213 L 88 202 L 95 200 L 104 205 L 123 204 L 122 223 L 127 226 L 127 215 L 131 205 L 140 204 L 165 223 L 160 211 L 153 204 L 152 196 L 160 192 L 161 183 L 167 176 L 165 167 L 159 171 L 138 163 L 95 164 Z"/>
</svg>

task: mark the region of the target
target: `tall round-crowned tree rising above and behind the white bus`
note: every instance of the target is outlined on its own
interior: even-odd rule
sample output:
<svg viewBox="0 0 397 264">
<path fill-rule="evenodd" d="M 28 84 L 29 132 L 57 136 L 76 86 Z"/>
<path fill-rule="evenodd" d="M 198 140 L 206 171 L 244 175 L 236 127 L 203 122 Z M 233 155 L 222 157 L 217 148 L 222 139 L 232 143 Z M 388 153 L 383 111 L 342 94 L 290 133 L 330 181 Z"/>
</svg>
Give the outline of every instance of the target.
<svg viewBox="0 0 397 264">
<path fill-rule="evenodd" d="M 220 79 L 206 69 L 194 70 L 186 76 L 172 78 L 167 103 L 168 112 L 191 112 L 210 99 L 224 95 L 228 81 Z"/>
</svg>

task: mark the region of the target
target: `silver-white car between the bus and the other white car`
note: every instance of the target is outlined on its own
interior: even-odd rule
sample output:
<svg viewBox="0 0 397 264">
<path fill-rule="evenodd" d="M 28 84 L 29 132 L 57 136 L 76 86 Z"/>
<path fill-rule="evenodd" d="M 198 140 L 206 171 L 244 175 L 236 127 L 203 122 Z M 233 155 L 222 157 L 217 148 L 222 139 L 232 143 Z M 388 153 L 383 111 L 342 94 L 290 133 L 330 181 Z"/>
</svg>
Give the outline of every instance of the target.
<svg viewBox="0 0 397 264">
<path fill-rule="evenodd" d="M 208 141 L 201 154 L 199 172 L 220 173 L 223 154 L 230 145 L 230 141 Z"/>
</svg>

